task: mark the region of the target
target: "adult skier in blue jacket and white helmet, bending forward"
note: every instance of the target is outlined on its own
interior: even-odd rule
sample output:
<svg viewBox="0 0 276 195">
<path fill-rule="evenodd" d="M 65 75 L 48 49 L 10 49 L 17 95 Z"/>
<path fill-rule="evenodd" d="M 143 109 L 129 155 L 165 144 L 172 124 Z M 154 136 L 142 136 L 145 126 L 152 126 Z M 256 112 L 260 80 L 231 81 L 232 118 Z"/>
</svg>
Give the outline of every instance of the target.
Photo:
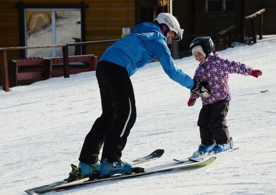
<svg viewBox="0 0 276 195">
<path fill-rule="evenodd" d="M 164 71 L 174 81 L 202 97 L 210 92 L 178 69 L 167 44 L 181 40 L 183 29 L 169 13 L 161 13 L 154 23 L 142 23 L 131 34 L 108 47 L 99 59 L 96 77 L 100 89 L 102 114 L 87 134 L 79 156 L 79 170 L 100 175 L 132 171 L 130 163 L 121 161 L 121 151 L 136 120 L 135 98 L 130 76 L 137 69 L 158 58 Z M 101 161 L 98 159 L 103 145 Z"/>
</svg>

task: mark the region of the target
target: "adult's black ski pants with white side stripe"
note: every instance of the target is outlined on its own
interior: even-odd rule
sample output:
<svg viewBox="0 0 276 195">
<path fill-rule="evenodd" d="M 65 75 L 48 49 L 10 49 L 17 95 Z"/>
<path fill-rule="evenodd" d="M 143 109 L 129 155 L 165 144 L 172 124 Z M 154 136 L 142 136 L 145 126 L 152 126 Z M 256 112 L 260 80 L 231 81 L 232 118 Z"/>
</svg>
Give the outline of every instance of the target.
<svg viewBox="0 0 276 195">
<path fill-rule="evenodd" d="M 79 160 L 93 164 L 103 145 L 101 160 L 120 161 L 127 136 L 136 120 L 132 83 L 126 69 L 100 61 L 96 68 L 100 88 L 102 114 L 87 134 Z"/>
</svg>

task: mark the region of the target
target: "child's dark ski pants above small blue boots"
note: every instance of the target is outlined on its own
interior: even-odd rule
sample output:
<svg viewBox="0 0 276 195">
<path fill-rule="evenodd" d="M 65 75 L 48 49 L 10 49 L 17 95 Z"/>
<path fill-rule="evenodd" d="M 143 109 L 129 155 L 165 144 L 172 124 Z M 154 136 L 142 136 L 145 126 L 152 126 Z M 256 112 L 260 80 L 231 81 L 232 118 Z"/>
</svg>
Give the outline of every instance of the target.
<svg viewBox="0 0 276 195">
<path fill-rule="evenodd" d="M 202 144 L 229 143 L 229 131 L 225 119 L 228 109 L 229 101 L 226 100 L 202 106 L 197 122 Z"/>
</svg>

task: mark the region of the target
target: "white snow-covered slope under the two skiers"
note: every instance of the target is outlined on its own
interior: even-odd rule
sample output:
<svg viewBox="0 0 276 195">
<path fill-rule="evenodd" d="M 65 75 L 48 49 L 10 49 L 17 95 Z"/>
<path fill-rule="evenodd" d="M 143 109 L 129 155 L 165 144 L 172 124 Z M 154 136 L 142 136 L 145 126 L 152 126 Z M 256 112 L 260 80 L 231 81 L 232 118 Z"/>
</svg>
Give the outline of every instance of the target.
<svg viewBox="0 0 276 195">
<path fill-rule="evenodd" d="M 219 52 L 263 71 L 259 78 L 239 74 L 229 78 L 232 101 L 227 123 L 239 150 L 195 170 L 107 181 L 55 194 L 275 194 L 275 48 L 275 39 L 264 39 Z M 190 76 L 198 66 L 192 56 L 175 62 Z M 122 159 L 131 161 L 165 149 L 159 160 L 143 164 L 154 169 L 190 156 L 200 144 L 201 101 L 188 107 L 190 91 L 170 80 L 159 62 L 146 65 L 131 80 L 137 120 Z M 1 194 L 25 194 L 25 189 L 65 178 L 70 164 L 78 164 L 83 140 L 101 114 L 95 72 L 1 90 L 0 102 Z"/>
</svg>

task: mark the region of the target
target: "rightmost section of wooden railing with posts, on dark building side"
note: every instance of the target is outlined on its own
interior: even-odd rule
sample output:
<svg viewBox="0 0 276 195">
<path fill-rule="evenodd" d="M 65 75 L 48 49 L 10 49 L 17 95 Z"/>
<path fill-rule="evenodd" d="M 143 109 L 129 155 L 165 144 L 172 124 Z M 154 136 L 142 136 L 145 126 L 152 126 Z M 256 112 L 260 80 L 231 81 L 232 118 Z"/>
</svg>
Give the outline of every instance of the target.
<svg viewBox="0 0 276 195">
<path fill-rule="evenodd" d="M 265 12 L 265 9 L 261 9 L 258 12 L 245 17 L 246 20 L 251 21 L 251 28 L 252 28 L 252 38 L 253 38 L 253 43 L 257 43 L 257 38 L 256 38 L 256 27 L 255 27 L 255 18 L 257 16 L 260 16 L 260 25 L 259 25 L 259 39 L 262 39 L 262 34 L 263 34 L 263 13 Z"/>
</svg>

